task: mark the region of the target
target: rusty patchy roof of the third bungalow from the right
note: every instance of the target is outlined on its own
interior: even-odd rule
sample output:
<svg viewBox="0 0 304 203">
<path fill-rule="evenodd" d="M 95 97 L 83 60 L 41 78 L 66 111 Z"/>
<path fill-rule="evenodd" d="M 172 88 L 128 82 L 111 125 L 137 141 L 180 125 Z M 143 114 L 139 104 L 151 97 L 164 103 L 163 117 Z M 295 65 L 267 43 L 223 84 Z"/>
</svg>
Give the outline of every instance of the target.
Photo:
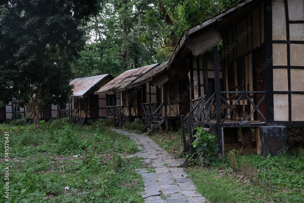
<svg viewBox="0 0 304 203">
<path fill-rule="evenodd" d="M 147 65 L 140 68 L 135 68 L 127 70 L 122 74 L 118 75 L 116 78 L 105 84 L 102 88 L 98 89 L 95 94 L 105 92 L 105 91 L 122 91 L 127 88 L 127 85 L 135 81 L 137 78 L 145 75 L 147 72 L 155 69 L 160 64 Z"/>
</svg>

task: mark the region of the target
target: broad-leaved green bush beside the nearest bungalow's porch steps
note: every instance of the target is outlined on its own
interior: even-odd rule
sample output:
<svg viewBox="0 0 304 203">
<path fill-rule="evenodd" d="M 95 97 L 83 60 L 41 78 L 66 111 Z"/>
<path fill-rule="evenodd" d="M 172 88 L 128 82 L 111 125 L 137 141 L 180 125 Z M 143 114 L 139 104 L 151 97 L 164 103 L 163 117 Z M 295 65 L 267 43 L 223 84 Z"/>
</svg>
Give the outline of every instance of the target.
<svg viewBox="0 0 304 203">
<path fill-rule="evenodd" d="M 202 166 L 210 164 L 216 158 L 216 152 L 219 151 L 216 136 L 207 133 L 201 127 L 196 127 L 195 130 L 196 139 L 192 143 L 195 148 L 195 163 Z"/>
</svg>

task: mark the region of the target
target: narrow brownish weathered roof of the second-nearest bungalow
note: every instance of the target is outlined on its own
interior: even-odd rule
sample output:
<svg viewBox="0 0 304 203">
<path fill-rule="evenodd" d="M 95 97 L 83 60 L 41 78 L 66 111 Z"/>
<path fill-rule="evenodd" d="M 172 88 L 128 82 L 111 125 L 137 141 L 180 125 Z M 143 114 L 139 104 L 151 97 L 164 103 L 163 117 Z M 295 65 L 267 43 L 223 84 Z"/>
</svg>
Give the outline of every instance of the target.
<svg viewBox="0 0 304 203">
<path fill-rule="evenodd" d="M 156 77 L 157 75 L 159 75 L 162 72 L 167 70 L 167 64 L 168 64 L 168 61 L 164 62 L 163 64 L 157 66 L 154 69 L 151 69 L 146 74 L 140 76 L 139 78 L 134 80 L 132 83 L 127 85 L 127 88 L 136 87 L 136 86 L 139 86 L 143 83 L 147 83 L 147 82 L 152 81 L 154 77 Z"/>
</svg>

